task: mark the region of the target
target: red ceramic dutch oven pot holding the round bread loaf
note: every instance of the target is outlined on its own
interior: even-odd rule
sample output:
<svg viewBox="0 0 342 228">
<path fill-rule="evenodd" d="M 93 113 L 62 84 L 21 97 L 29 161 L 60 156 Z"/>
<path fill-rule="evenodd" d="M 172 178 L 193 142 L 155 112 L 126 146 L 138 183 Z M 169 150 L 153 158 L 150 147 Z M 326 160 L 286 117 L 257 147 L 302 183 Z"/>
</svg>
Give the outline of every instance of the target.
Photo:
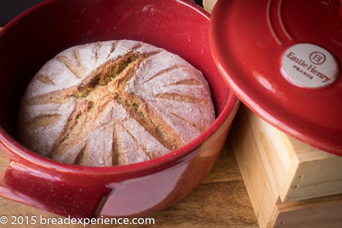
<svg viewBox="0 0 342 228">
<path fill-rule="evenodd" d="M 99 212 L 142 216 L 189 194 L 214 165 L 239 104 L 212 58 L 209 17 L 187 0 L 47 0 L 7 24 L 0 31 L 0 146 L 9 167 L 0 177 L 0 195 L 84 218 Z M 71 46 L 121 39 L 165 48 L 202 71 L 214 100 L 214 124 L 176 151 L 126 166 L 67 165 L 20 145 L 21 96 L 40 67 Z"/>
</svg>

